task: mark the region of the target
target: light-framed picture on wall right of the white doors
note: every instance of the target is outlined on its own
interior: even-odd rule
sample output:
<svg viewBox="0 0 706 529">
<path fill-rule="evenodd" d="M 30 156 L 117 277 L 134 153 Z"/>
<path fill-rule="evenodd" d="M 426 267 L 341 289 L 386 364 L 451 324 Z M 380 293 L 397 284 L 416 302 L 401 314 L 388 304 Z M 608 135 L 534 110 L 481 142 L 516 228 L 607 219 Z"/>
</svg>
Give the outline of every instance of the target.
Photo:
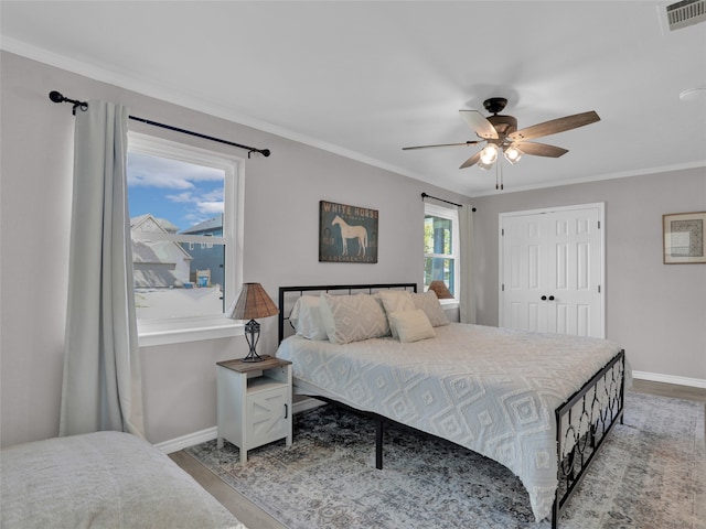
<svg viewBox="0 0 706 529">
<path fill-rule="evenodd" d="M 662 215 L 664 263 L 706 262 L 706 212 Z"/>
</svg>

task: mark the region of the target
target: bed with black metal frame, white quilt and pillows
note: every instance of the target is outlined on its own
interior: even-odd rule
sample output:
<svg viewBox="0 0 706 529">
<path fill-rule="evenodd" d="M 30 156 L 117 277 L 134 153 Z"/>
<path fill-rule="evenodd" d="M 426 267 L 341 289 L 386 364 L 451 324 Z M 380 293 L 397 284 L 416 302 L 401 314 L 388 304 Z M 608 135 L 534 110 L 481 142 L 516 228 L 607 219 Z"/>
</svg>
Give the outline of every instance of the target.
<svg viewBox="0 0 706 529">
<path fill-rule="evenodd" d="M 378 468 L 386 422 L 447 439 L 510 468 L 553 528 L 622 420 L 613 342 L 450 323 L 415 283 L 282 287 L 279 305 L 295 392 L 373 414 Z"/>
</svg>

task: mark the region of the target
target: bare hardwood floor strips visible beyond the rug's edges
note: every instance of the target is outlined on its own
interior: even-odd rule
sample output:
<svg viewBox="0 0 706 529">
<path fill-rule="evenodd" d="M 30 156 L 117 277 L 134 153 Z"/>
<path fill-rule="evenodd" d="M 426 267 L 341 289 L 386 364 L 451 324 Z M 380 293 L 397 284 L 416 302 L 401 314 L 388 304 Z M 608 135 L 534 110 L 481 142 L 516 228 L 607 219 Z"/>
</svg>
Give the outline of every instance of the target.
<svg viewBox="0 0 706 529">
<path fill-rule="evenodd" d="M 657 395 L 675 399 L 706 402 L 706 389 L 671 384 L 652 382 L 649 380 L 633 380 L 632 391 Z M 238 492 L 228 487 L 205 466 L 186 454 L 183 450 L 170 454 L 170 457 L 196 482 L 208 490 L 218 501 L 235 515 L 235 517 L 250 529 L 287 529 L 275 518 L 249 501 Z"/>
</svg>

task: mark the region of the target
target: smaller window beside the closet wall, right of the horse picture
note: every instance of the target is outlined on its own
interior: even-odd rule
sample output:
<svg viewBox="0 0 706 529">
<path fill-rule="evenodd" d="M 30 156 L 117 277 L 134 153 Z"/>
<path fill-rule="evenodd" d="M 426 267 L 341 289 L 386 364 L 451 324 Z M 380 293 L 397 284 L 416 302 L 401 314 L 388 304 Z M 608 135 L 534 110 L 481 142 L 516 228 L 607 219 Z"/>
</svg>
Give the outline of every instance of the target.
<svg viewBox="0 0 706 529">
<path fill-rule="evenodd" d="M 425 204 L 424 287 L 446 283 L 456 296 L 459 278 L 459 214 L 457 209 Z"/>
</svg>

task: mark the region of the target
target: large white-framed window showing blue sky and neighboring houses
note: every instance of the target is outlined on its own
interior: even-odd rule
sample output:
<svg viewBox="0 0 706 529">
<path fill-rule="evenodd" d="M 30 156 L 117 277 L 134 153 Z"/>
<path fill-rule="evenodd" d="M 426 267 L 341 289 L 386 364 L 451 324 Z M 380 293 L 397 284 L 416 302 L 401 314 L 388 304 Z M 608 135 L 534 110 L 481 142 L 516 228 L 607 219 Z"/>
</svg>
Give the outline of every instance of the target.
<svg viewBox="0 0 706 529">
<path fill-rule="evenodd" d="M 237 334 L 243 161 L 129 133 L 128 207 L 140 345 Z"/>
</svg>

